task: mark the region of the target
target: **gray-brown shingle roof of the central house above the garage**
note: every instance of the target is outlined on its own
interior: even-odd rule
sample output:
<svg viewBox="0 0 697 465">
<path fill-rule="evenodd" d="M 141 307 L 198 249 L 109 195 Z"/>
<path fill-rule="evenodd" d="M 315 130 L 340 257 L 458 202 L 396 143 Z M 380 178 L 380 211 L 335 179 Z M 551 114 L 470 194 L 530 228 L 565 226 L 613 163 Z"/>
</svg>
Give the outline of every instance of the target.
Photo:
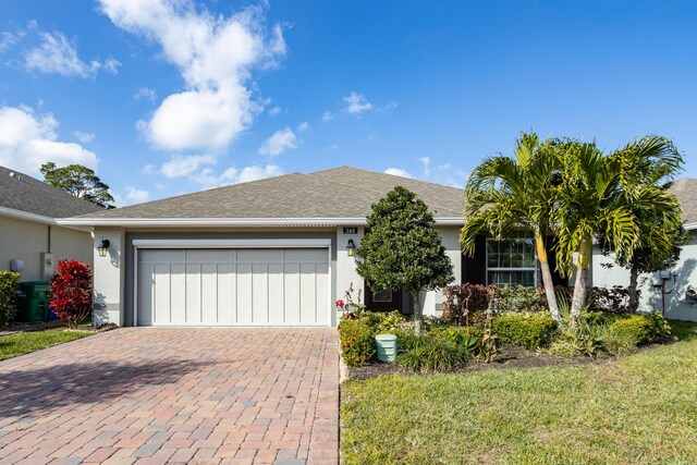
<svg viewBox="0 0 697 465">
<path fill-rule="evenodd" d="M 462 222 L 463 189 L 351 167 L 291 173 L 63 220 L 72 224 L 360 224 L 401 185 L 443 222 Z M 157 221 L 152 221 L 157 220 Z M 206 220 L 206 221 L 204 221 Z M 236 221 L 231 221 L 236 220 Z M 269 220 L 269 221 L 265 221 Z"/>
</svg>

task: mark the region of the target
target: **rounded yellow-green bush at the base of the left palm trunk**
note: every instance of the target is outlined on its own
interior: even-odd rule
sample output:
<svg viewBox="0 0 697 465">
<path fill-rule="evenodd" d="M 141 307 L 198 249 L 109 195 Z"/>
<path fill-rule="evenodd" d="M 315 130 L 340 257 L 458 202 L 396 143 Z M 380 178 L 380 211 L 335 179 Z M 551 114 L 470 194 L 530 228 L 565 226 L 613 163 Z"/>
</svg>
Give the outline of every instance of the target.
<svg viewBox="0 0 697 465">
<path fill-rule="evenodd" d="M 535 348 L 550 343 L 557 323 L 547 314 L 508 311 L 493 317 L 492 329 L 503 342 Z"/>
</svg>

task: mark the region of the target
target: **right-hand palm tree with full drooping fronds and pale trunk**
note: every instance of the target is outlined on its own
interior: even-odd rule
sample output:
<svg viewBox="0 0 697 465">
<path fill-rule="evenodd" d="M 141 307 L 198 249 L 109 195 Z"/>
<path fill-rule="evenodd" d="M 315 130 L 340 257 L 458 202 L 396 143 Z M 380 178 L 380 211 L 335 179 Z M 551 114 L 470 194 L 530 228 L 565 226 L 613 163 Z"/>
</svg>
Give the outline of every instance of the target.
<svg viewBox="0 0 697 465">
<path fill-rule="evenodd" d="M 680 169 L 682 157 L 670 142 L 656 136 L 635 140 L 610 156 L 595 143 L 559 140 L 552 147 L 561 166 L 552 217 L 558 267 L 570 273 L 578 254 L 571 310 L 575 320 L 586 299 L 594 236 L 603 234 L 617 256 L 632 260 L 643 243 L 641 211 L 664 211 L 667 220 L 675 220 L 676 199 L 659 182 Z M 677 211 L 680 221 L 680 207 Z M 665 245 L 661 234 L 653 238 L 657 246 Z"/>
</svg>

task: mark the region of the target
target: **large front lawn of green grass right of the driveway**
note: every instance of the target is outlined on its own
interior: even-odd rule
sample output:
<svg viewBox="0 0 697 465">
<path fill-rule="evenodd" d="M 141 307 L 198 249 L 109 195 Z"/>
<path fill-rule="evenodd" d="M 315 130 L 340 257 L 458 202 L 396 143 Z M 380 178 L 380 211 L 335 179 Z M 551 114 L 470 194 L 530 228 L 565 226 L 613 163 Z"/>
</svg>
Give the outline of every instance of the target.
<svg viewBox="0 0 697 465">
<path fill-rule="evenodd" d="M 342 387 L 345 464 L 697 463 L 697 325 L 606 364 Z"/>
</svg>

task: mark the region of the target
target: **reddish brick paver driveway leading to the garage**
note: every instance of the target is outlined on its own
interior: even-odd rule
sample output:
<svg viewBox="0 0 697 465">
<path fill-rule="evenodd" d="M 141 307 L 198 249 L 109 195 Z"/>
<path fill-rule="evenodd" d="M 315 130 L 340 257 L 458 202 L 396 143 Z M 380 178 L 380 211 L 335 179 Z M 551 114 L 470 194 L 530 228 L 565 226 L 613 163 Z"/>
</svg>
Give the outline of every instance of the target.
<svg viewBox="0 0 697 465">
<path fill-rule="evenodd" d="M 0 363 L 0 463 L 338 462 L 335 330 L 125 328 Z"/>
</svg>

